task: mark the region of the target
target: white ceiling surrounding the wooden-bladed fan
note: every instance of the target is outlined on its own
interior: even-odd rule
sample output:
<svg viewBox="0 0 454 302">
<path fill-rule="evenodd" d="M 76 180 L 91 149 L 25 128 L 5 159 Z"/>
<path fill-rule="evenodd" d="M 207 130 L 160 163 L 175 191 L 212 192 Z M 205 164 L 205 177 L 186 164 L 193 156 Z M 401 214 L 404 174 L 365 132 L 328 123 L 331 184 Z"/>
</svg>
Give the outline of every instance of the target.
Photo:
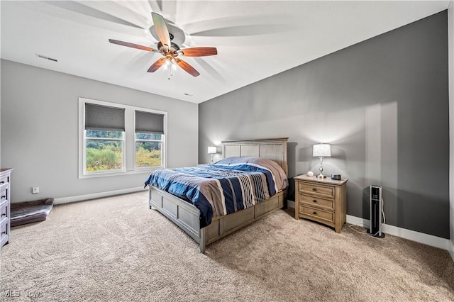
<svg viewBox="0 0 454 302">
<path fill-rule="evenodd" d="M 448 9 L 449 2 L 1 1 L 1 58 L 201 103 Z M 152 11 L 184 30 L 180 47 L 217 47 L 216 56 L 183 57 L 199 77 L 179 67 L 170 79 L 163 68 L 149 73 L 159 53 L 109 43 L 155 47 Z"/>
</svg>

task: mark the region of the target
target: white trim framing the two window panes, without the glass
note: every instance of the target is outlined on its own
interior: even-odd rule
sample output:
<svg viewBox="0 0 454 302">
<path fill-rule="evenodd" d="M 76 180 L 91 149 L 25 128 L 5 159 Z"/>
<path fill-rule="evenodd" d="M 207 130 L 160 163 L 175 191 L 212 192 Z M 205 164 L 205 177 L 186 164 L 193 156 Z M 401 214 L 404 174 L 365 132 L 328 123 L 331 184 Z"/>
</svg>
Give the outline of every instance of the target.
<svg viewBox="0 0 454 302">
<path fill-rule="evenodd" d="M 110 106 L 116 108 L 125 109 L 125 138 L 123 141 L 123 171 L 107 171 L 107 172 L 96 172 L 89 173 L 85 172 L 84 168 L 84 157 L 85 157 L 85 145 L 84 145 L 84 124 L 85 124 L 85 103 L 96 104 L 101 106 Z M 162 152 L 162 164 L 163 167 L 150 167 L 150 168 L 136 168 L 135 167 L 135 111 L 144 111 L 150 113 L 158 113 L 164 116 L 164 142 Z M 79 97 L 79 179 L 93 178 L 93 177 L 111 177 L 128 174 L 143 174 L 150 173 L 155 169 L 167 167 L 167 112 L 154 110 L 150 108 L 142 108 L 136 106 L 129 106 L 124 104 L 110 103 L 106 101 L 99 101 L 94 99 L 86 99 Z"/>
</svg>

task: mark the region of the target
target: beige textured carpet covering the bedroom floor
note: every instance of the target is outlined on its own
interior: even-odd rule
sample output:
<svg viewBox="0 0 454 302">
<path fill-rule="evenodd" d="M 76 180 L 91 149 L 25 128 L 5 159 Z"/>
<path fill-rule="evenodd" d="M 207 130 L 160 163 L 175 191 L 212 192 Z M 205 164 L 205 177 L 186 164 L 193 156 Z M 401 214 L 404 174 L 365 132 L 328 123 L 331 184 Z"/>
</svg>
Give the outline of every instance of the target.
<svg viewBox="0 0 454 302">
<path fill-rule="evenodd" d="M 199 253 L 140 192 L 11 230 L 0 301 L 454 301 L 445 250 L 276 211 Z M 10 297 L 10 296 L 13 297 Z"/>
</svg>

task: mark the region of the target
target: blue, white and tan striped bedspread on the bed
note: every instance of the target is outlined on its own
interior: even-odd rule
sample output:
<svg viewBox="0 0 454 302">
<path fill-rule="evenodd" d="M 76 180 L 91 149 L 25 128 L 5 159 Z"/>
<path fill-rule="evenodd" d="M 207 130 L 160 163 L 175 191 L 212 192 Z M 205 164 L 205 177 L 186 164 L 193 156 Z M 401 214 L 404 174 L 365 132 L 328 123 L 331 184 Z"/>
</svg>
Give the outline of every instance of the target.
<svg viewBox="0 0 454 302">
<path fill-rule="evenodd" d="M 155 186 L 189 201 L 201 211 L 201 228 L 223 216 L 265 201 L 288 185 L 276 162 L 258 157 L 229 157 L 216 164 L 159 169 L 145 186 Z"/>
</svg>

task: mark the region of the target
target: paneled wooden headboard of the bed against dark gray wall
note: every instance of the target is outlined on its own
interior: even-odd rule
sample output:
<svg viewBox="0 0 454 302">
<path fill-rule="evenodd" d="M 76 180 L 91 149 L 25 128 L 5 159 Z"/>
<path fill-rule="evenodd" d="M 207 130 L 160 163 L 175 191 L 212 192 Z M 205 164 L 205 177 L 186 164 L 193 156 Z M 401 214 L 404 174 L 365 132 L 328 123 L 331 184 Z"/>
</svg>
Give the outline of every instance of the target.
<svg viewBox="0 0 454 302">
<path fill-rule="evenodd" d="M 266 138 L 262 140 L 225 140 L 222 142 L 223 158 L 263 157 L 273 160 L 289 174 L 287 164 L 287 140 L 289 138 Z"/>
</svg>

